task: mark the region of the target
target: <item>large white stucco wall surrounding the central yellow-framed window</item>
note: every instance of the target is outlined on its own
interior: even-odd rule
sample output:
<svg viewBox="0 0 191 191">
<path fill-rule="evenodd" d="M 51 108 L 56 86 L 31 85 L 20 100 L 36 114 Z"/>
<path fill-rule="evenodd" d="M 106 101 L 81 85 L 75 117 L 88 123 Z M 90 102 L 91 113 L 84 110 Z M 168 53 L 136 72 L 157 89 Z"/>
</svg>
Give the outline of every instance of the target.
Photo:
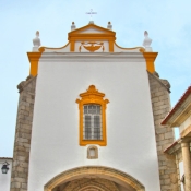
<svg viewBox="0 0 191 191">
<path fill-rule="evenodd" d="M 105 93 L 107 146 L 98 159 L 79 145 L 79 94 L 89 85 Z M 58 174 L 99 165 L 122 170 L 159 191 L 146 63 L 142 53 L 44 53 L 34 108 L 28 191 L 43 191 Z"/>
</svg>

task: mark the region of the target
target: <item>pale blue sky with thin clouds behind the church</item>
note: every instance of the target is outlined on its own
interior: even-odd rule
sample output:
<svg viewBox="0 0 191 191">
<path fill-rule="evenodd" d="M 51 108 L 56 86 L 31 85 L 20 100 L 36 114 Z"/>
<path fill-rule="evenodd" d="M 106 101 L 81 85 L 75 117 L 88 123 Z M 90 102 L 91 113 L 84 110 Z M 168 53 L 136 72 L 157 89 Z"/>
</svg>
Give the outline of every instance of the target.
<svg viewBox="0 0 191 191">
<path fill-rule="evenodd" d="M 19 93 L 29 71 L 27 51 L 38 29 L 41 45 L 61 47 L 74 21 L 86 25 L 93 9 L 95 24 L 108 21 L 122 47 L 142 46 L 144 31 L 158 52 L 156 71 L 171 84 L 171 106 L 191 84 L 190 0 L 0 0 L 0 156 L 12 157 Z"/>
</svg>

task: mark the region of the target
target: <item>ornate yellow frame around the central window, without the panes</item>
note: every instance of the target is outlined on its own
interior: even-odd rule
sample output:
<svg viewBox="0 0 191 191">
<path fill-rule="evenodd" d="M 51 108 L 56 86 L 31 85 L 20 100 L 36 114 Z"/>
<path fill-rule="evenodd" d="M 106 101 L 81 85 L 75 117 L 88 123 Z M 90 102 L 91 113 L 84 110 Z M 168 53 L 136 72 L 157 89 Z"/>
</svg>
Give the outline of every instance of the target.
<svg viewBox="0 0 191 191">
<path fill-rule="evenodd" d="M 80 145 L 85 146 L 87 144 L 98 144 L 100 146 L 107 145 L 106 138 L 106 105 L 109 103 L 108 99 L 104 99 L 105 94 L 99 93 L 95 85 L 91 85 L 87 92 L 80 94 L 81 99 L 76 99 L 80 110 Z M 103 139 L 102 140 L 84 140 L 83 139 L 83 106 L 87 104 L 97 104 L 102 106 L 102 130 Z"/>
</svg>

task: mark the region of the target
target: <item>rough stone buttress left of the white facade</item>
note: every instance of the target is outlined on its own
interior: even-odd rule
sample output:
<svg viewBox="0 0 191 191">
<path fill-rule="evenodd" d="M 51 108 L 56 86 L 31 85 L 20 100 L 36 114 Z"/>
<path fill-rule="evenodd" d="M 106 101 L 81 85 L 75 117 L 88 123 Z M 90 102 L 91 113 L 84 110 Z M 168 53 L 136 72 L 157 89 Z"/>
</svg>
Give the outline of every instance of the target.
<svg viewBox="0 0 191 191">
<path fill-rule="evenodd" d="M 27 77 L 26 81 L 17 85 L 20 99 L 13 151 L 11 191 L 27 191 L 35 87 L 36 77 Z"/>
</svg>

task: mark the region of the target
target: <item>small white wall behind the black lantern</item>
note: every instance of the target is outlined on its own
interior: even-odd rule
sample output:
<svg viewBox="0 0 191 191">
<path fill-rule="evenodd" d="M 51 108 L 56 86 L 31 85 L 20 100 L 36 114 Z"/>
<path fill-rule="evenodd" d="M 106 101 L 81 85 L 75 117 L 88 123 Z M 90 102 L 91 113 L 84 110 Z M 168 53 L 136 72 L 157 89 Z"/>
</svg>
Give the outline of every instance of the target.
<svg viewBox="0 0 191 191">
<path fill-rule="evenodd" d="M 2 174 L 2 165 L 4 162 L 8 162 L 10 165 L 8 166 L 9 170 L 7 174 Z M 12 168 L 12 159 L 10 158 L 0 158 L 0 191 L 10 191 L 11 184 L 11 168 Z"/>
</svg>

